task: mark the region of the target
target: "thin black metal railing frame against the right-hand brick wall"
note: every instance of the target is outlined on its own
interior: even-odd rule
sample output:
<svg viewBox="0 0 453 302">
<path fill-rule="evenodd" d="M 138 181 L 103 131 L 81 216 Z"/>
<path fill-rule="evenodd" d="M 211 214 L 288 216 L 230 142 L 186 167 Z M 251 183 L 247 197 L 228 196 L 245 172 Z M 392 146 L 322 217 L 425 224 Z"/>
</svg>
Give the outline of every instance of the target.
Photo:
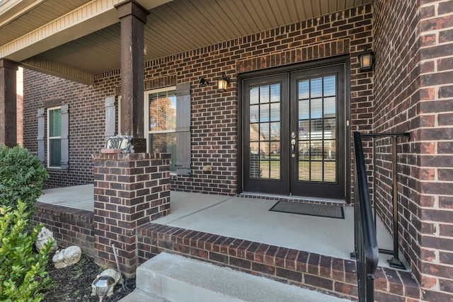
<svg viewBox="0 0 453 302">
<path fill-rule="evenodd" d="M 382 254 L 393 255 L 389 260 L 390 267 L 396 269 L 405 269 L 401 260 L 399 260 L 399 248 L 398 248 L 398 137 L 411 138 L 411 134 L 408 132 L 394 132 L 394 133 L 368 133 L 360 134 L 361 137 L 371 137 L 373 139 L 373 188 L 374 194 L 376 194 L 376 138 L 391 138 L 391 165 L 392 165 L 392 206 L 393 206 L 393 250 L 385 250 L 379 248 L 379 252 Z M 374 228 L 376 228 L 376 205 L 374 205 Z"/>
</svg>

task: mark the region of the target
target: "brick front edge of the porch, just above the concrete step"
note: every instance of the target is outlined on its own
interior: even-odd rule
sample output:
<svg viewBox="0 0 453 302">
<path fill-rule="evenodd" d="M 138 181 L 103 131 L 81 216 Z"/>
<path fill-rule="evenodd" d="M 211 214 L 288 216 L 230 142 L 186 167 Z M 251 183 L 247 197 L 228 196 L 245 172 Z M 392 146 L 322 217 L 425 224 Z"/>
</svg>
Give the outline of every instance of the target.
<svg viewBox="0 0 453 302">
<path fill-rule="evenodd" d="M 352 260 L 159 223 L 147 223 L 137 235 L 141 264 L 168 252 L 340 298 L 357 299 L 356 266 Z M 420 286 L 411 272 L 378 267 L 374 287 L 376 301 L 420 301 Z"/>
</svg>

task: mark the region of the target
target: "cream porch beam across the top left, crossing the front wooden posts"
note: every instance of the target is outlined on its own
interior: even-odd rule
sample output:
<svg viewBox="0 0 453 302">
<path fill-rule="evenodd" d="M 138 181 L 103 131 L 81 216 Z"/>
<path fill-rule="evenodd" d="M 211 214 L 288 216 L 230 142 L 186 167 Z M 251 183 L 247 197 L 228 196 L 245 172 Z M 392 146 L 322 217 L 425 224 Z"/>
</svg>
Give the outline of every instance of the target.
<svg viewBox="0 0 453 302">
<path fill-rule="evenodd" d="M 142 0 L 139 4 L 150 10 L 172 0 Z M 79 37 L 119 22 L 115 4 L 120 0 L 93 0 L 30 33 L 0 47 L 0 58 L 22 62 L 41 52 L 63 45 Z"/>
</svg>

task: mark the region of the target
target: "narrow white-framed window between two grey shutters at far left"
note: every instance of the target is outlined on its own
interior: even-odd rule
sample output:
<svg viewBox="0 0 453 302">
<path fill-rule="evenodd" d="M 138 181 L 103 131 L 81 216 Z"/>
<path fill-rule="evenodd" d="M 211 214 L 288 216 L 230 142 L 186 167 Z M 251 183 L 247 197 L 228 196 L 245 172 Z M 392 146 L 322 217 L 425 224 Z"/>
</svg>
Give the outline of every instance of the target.
<svg viewBox="0 0 453 302">
<path fill-rule="evenodd" d="M 61 168 L 62 113 L 60 107 L 47 109 L 47 166 Z"/>
</svg>

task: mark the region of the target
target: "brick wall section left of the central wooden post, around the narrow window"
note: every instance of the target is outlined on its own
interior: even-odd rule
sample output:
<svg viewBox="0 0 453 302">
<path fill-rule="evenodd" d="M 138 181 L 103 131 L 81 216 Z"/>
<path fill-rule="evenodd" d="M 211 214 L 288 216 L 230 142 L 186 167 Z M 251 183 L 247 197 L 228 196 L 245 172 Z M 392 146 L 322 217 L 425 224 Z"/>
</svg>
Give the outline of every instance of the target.
<svg viewBox="0 0 453 302">
<path fill-rule="evenodd" d="M 24 69 L 23 144 L 25 148 L 33 153 L 38 152 L 36 137 L 38 137 L 37 110 L 39 108 L 69 105 L 69 170 L 48 169 L 47 187 L 83 185 L 93 182 L 91 155 L 99 152 L 104 144 L 104 98 L 115 94 L 115 88 L 109 88 L 105 81 L 89 87 Z M 45 116 L 47 138 L 47 112 Z M 45 165 L 47 166 L 47 153 Z"/>
</svg>

